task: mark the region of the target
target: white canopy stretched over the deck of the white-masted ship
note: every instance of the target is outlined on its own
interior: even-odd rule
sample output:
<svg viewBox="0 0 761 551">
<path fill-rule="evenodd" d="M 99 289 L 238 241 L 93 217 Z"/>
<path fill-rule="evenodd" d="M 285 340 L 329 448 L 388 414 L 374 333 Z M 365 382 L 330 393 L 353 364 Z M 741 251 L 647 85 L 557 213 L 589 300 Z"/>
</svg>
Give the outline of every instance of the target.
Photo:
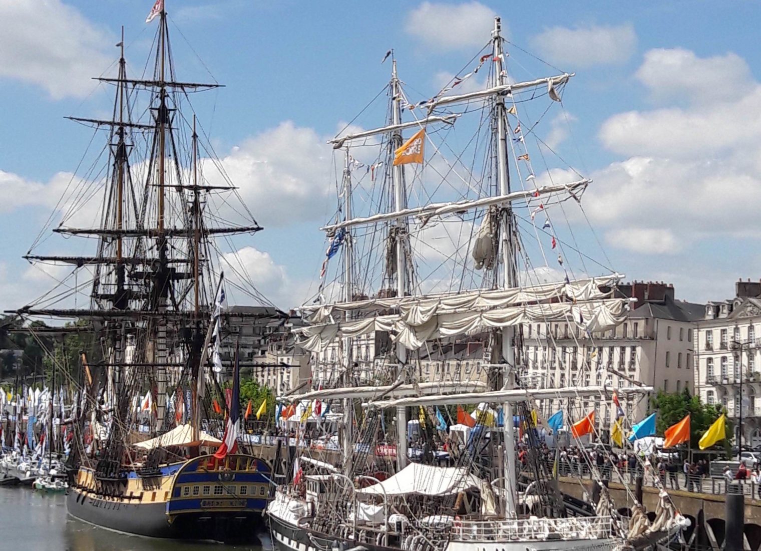
<svg viewBox="0 0 761 551">
<path fill-rule="evenodd" d="M 489 492 L 489 485 L 464 467 L 435 467 L 409 463 L 403 470 L 357 492 L 365 495 L 453 495 L 466 489 L 478 488 Z"/>
</svg>

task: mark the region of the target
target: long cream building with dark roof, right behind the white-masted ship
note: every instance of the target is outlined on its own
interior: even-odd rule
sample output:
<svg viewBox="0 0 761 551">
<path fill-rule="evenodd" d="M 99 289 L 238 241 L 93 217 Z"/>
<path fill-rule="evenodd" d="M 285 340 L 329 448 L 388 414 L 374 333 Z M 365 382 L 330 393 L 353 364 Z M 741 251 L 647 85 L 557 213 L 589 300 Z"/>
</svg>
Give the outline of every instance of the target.
<svg viewBox="0 0 761 551">
<path fill-rule="evenodd" d="M 604 333 L 586 333 L 573 321 L 530 323 L 523 326 L 527 372 L 538 387 L 606 385 L 616 389 L 645 384 L 655 390 L 693 390 L 696 321 L 702 304 L 677 301 L 673 285 L 633 282 L 619 285 L 619 296 L 632 299 L 625 323 Z M 551 415 L 568 401 L 547 400 L 543 413 Z M 572 400 L 578 419 L 591 409 L 603 427 L 616 412 L 600 400 Z M 630 419 L 648 414 L 649 399 L 626 402 Z M 546 409 L 546 410 L 545 410 Z"/>
</svg>

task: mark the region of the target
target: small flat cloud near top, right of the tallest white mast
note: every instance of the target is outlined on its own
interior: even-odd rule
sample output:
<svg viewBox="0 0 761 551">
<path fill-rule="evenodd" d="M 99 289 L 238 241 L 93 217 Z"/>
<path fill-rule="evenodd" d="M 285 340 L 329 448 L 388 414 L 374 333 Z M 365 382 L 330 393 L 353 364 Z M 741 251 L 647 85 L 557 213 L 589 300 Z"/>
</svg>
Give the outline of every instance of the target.
<svg viewBox="0 0 761 551">
<path fill-rule="evenodd" d="M 626 62 L 637 47 L 632 24 L 552 27 L 533 37 L 534 49 L 550 62 L 572 67 Z"/>
</svg>

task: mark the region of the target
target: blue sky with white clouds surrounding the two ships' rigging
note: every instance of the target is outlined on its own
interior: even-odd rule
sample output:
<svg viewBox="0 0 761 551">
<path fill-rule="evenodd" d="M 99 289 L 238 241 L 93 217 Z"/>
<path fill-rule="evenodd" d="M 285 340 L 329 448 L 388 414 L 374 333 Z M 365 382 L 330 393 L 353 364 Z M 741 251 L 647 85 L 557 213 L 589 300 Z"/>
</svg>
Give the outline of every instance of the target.
<svg viewBox="0 0 761 551">
<path fill-rule="evenodd" d="M 151 5 L 0 0 L 4 309 L 61 276 L 21 256 L 61 217 L 59 195 L 92 138 L 64 117 L 107 114 L 113 92 L 91 77 L 113 69 L 122 26 L 130 67 L 142 70 Z M 495 15 L 508 53 L 576 73 L 564 124 L 548 121 L 546 135 L 594 180 L 584 239 L 606 265 L 673 283 L 690 301 L 729 298 L 737 278 L 761 277 L 758 2 L 167 0 L 167 13 L 180 80 L 224 84 L 194 105 L 265 228 L 236 244 L 279 307 L 314 293 L 318 228 L 336 202 L 325 142 L 387 83 L 384 53 L 393 48 L 401 78 L 431 96 L 489 40 Z M 45 246 L 37 252 L 56 241 Z"/>
</svg>

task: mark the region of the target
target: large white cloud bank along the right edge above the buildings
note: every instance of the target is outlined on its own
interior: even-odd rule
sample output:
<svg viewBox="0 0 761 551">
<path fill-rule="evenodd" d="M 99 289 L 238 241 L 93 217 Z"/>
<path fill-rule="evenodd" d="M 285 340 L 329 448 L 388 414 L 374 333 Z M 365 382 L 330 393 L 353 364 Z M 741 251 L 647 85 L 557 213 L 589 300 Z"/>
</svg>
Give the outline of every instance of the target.
<svg viewBox="0 0 761 551">
<path fill-rule="evenodd" d="M 619 113 L 601 126 L 603 145 L 625 157 L 591 174 L 594 193 L 585 197 L 607 243 L 672 253 L 704 238 L 761 235 L 755 214 L 761 208 L 761 84 L 750 81 L 746 69 L 734 54 L 645 54 L 637 78 L 654 97 L 680 105 Z M 693 88 L 696 71 L 717 85 L 731 75 L 743 84 L 718 97 Z M 683 105 L 685 94 L 690 101 Z"/>
</svg>

